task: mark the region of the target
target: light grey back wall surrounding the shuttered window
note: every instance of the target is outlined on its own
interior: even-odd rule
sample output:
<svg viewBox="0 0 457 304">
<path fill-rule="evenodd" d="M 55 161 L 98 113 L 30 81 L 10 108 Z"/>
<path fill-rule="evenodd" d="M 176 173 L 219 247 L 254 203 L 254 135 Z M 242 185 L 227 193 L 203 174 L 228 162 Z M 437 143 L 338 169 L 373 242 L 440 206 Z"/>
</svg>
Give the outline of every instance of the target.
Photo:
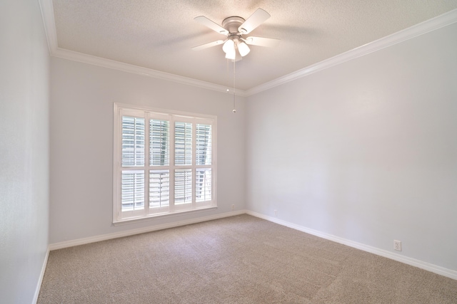
<svg viewBox="0 0 457 304">
<path fill-rule="evenodd" d="M 51 58 L 50 243 L 228 213 L 244 205 L 244 102 L 226 93 Z M 113 103 L 217 115 L 219 208 L 113 226 Z"/>
</svg>

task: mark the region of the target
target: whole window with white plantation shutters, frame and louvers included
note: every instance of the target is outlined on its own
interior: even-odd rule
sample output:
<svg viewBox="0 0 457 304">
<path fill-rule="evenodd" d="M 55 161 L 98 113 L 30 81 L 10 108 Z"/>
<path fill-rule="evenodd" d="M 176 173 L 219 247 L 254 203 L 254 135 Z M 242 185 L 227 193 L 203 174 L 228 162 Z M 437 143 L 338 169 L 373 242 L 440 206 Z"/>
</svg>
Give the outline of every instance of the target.
<svg viewBox="0 0 457 304">
<path fill-rule="evenodd" d="M 113 221 L 216 207 L 216 117 L 114 104 Z"/>
</svg>

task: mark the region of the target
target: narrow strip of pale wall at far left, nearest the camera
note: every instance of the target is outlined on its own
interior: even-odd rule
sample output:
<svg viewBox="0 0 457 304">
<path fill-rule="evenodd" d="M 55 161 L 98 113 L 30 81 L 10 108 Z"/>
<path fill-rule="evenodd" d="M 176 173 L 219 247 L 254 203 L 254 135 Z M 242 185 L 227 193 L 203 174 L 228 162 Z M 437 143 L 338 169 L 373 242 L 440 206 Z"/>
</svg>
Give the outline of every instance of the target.
<svg viewBox="0 0 457 304">
<path fill-rule="evenodd" d="M 49 213 L 49 51 L 38 1 L 0 1 L 0 41 L 0 302 L 32 303 Z"/>
</svg>

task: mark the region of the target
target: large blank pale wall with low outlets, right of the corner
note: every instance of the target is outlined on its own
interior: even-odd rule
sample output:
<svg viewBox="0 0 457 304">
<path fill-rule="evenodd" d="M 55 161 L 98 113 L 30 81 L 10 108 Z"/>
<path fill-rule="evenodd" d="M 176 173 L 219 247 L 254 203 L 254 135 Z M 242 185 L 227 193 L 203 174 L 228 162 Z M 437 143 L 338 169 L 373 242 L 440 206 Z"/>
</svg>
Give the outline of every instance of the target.
<svg viewBox="0 0 457 304">
<path fill-rule="evenodd" d="M 246 204 L 457 271 L 457 23 L 248 98 Z"/>
</svg>

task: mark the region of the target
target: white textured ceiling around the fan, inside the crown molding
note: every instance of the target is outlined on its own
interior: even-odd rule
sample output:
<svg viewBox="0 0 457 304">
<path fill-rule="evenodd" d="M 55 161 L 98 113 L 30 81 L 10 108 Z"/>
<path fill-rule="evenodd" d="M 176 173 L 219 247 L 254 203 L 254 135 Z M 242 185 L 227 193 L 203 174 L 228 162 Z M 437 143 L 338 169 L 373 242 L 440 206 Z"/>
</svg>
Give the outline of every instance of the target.
<svg viewBox="0 0 457 304">
<path fill-rule="evenodd" d="M 247 19 L 258 8 L 271 18 L 250 36 L 279 38 L 275 48 L 251 46 L 236 62 L 236 88 L 248 90 L 340 53 L 457 9 L 457 0 L 54 0 L 59 48 L 161 72 L 233 85 L 233 63 L 221 46 L 192 51 L 224 39 L 194 21 L 221 24 Z"/>
</svg>

